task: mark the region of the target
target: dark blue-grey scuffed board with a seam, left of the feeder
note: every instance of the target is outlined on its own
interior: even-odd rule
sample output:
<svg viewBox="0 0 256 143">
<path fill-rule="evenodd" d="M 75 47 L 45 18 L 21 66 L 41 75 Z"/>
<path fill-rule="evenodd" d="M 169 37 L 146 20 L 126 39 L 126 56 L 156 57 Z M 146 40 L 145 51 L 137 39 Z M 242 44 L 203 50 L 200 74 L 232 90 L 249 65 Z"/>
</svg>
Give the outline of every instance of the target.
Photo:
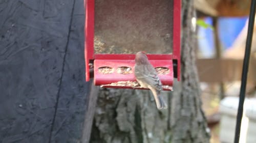
<svg viewBox="0 0 256 143">
<path fill-rule="evenodd" d="M 79 142 L 83 1 L 0 1 L 0 142 Z"/>
</svg>

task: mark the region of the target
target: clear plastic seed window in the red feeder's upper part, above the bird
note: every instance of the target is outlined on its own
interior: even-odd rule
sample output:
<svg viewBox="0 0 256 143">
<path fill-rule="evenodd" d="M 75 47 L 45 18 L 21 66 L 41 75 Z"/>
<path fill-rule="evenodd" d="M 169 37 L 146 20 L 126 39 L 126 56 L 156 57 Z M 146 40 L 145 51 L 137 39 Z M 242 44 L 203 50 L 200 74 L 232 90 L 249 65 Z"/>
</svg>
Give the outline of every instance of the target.
<svg viewBox="0 0 256 143">
<path fill-rule="evenodd" d="M 95 53 L 171 53 L 173 1 L 95 0 Z"/>
</svg>

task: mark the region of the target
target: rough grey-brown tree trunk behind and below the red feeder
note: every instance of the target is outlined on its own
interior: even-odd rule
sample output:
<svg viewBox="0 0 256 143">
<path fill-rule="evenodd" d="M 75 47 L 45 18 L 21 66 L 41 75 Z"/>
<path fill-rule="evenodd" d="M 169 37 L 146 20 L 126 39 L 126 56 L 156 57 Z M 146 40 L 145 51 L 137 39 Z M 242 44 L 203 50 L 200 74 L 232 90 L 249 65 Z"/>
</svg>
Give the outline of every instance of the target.
<svg viewBox="0 0 256 143">
<path fill-rule="evenodd" d="M 182 82 L 174 95 L 163 92 L 168 109 L 157 110 L 147 90 L 100 89 L 90 142 L 209 142 L 195 64 L 192 4 L 183 1 Z"/>
</svg>

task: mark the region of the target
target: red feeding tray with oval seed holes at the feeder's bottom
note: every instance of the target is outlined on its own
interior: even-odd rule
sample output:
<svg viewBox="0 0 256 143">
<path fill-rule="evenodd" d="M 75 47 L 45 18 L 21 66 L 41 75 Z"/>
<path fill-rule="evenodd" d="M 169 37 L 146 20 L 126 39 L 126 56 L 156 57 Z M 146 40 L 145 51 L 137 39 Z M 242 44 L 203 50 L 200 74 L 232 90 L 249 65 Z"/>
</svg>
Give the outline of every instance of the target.
<svg viewBox="0 0 256 143">
<path fill-rule="evenodd" d="M 172 90 L 172 54 L 147 54 L 155 68 L 164 69 L 158 74 L 164 90 Z M 94 84 L 104 88 L 142 89 L 134 75 L 135 54 L 95 54 Z"/>
</svg>

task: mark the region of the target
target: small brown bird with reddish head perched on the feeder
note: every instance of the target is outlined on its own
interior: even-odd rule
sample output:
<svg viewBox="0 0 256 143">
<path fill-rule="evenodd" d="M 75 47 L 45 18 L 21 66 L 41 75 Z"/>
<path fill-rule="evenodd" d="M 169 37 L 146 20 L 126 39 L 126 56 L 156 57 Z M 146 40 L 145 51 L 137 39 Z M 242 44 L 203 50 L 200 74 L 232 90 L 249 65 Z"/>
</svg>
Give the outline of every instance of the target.
<svg viewBox="0 0 256 143">
<path fill-rule="evenodd" d="M 157 108 L 167 108 L 161 96 L 162 83 L 155 68 L 150 64 L 145 52 L 138 52 L 135 58 L 135 77 L 142 88 L 150 89 L 154 95 Z"/>
</svg>

